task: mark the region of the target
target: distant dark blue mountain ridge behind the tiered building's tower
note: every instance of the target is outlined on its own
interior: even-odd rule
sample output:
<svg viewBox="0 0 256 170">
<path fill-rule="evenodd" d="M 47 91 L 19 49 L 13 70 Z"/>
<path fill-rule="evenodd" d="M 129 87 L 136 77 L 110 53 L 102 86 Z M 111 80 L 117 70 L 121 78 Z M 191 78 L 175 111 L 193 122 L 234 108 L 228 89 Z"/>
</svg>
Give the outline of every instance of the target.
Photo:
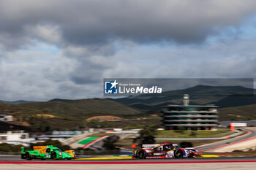
<svg viewBox="0 0 256 170">
<path fill-rule="evenodd" d="M 154 108 L 159 105 L 159 109 L 162 103 L 182 104 L 183 95 L 189 94 L 190 104 L 217 104 L 220 107 L 236 107 L 256 103 L 254 91 L 252 88 L 241 86 L 196 85 L 192 88 L 170 90 L 160 94 L 143 94 L 113 100 L 139 109 L 145 107 L 143 105 L 154 105 Z M 239 101 L 239 98 L 243 98 L 244 101 L 232 102 L 233 100 Z"/>
</svg>

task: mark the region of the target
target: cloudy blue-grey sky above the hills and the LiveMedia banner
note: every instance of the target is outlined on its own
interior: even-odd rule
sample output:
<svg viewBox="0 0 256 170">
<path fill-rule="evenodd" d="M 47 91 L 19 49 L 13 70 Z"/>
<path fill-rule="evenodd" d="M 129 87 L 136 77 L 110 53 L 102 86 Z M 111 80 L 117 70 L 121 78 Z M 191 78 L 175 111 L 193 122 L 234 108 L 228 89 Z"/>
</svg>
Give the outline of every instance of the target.
<svg viewBox="0 0 256 170">
<path fill-rule="evenodd" d="M 254 0 L 0 1 L 0 100 L 102 97 L 104 77 L 255 72 Z"/>
</svg>

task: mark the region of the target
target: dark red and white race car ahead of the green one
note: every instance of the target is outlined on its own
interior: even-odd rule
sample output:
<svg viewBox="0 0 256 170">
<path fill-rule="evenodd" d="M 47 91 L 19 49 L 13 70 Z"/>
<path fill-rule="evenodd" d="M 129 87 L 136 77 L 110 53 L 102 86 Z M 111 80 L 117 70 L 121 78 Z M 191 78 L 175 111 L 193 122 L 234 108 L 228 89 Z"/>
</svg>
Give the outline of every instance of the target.
<svg viewBox="0 0 256 170">
<path fill-rule="evenodd" d="M 142 144 L 140 149 L 132 152 L 132 158 L 148 159 L 148 158 L 194 158 L 199 156 L 195 147 L 181 148 L 178 144 L 163 143 L 163 144 Z"/>
</svg>

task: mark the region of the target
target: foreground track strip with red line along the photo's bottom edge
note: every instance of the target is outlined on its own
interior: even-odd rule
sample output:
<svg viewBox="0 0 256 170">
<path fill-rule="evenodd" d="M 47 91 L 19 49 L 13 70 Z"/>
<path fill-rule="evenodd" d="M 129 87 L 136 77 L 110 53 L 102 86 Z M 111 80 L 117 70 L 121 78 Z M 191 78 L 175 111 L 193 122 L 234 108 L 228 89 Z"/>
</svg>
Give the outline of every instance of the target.
<svg viewBox="0 0 256 170">
<path fill-rule="evenodd" d="M 0 156 L 0 170 L 130 170 L 130 169 L 225 169 L 251 170 L 256 167 L 256 157 L 184 158 L 154 160 L 104 160 L 104 161 L 23 161 L 19 156 Z M 16 160 L 16 161 L 15 161 Z"/>
</svg>

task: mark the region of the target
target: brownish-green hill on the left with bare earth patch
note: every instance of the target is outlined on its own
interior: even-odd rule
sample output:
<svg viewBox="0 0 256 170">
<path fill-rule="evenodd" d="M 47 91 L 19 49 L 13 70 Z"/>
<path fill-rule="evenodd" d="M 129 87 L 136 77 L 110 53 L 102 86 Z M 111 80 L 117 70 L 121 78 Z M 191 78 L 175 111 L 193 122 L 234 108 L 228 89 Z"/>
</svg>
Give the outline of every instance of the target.
<svg viewBox="0 0 256 170">
<path fill-rule="evenodd" d="M 95 115 L 137 116 L 136 109 L 108 99 L 81 99 L 47 101 L 26 104 L 0 104 L 0 112 L 13 115 L 16 123 L 29 124 L 34 130 L 78 129 L 86 125 L 86 119 Z"/>
</svg>

